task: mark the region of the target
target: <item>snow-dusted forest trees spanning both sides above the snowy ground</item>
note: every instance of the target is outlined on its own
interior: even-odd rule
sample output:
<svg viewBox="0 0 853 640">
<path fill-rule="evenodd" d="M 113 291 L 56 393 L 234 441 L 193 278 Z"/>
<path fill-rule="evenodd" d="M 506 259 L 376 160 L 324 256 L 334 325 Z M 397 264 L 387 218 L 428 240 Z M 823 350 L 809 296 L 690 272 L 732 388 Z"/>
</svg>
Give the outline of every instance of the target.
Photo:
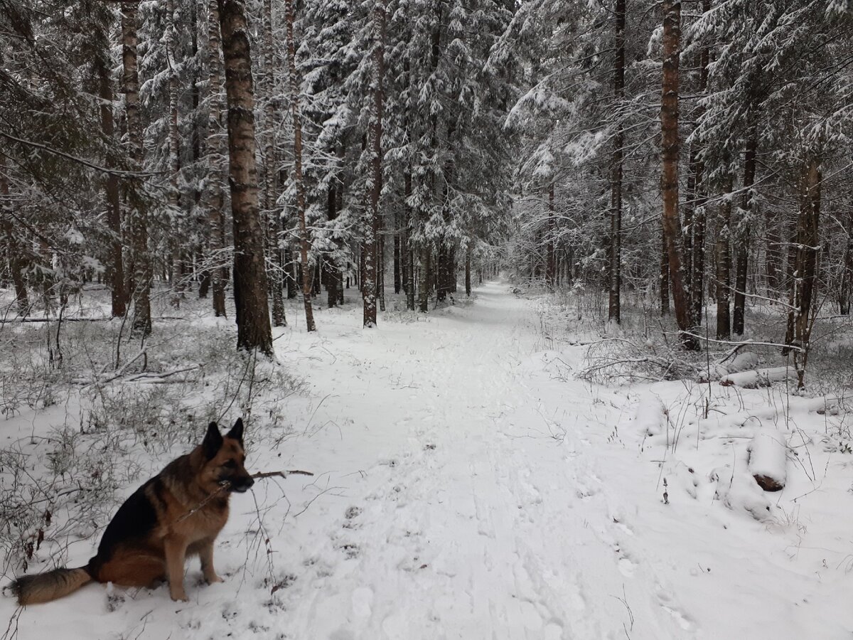
<svg viewBox="0 0 853 640">
<path fill-rule="evenodd" d="M 427 312 L 501 253 L 615 323 L 672 305 L 688 343 L 790 304 L 800 352 L 853 295 L 853 16 L 682 4 L 0 4 L 0 279 L 20 313 L 100 280 L 142 337 L 194 286 L 224 316 L 230 281 L 269 351 L 285 290 L 309 330 L 323 287 L 373 326 L 386 274 Z"/>
</svg>

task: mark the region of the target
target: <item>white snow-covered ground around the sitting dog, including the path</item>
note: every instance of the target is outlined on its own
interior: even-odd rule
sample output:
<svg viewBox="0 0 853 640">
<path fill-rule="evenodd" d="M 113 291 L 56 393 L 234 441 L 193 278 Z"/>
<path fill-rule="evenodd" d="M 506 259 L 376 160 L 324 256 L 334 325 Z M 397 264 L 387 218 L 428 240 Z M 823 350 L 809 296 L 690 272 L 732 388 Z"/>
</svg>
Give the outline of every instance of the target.
<svg viewBox="0 0 853 640">
<path fill-rule="evenodd" d="M 818 412 L 778 385 L 578 380 L 586 347 L 563 311 L 506 282 L 427 318 L 388 311 L 373 330 L 358 305 L 319 311 L 312 335 L 288 312 L 276 352 L 305 386 L 255 405 L 247 467 L 316 475 L 232 498 L 223 584 L 199 585 L 193 561 L 188 603 L 102 585 L 23 611 L 2 598 L 0 633 L 5 620 L 20 640 L 853 633 L 844 399 Z M 653 424 L 656 401 L 667 412 Z M 252 434 L 264 411 L 287 416 L 281 438 Z M 3 436 L 32 439 L 47 422 L 23 410 Z M 759 426 L 792 447 L 782 492 L 746 474 Z M 148 472 L 185 447 L 150 457 Z M 96 542 L 64 559 L 84 564 Z"/>
</svg>

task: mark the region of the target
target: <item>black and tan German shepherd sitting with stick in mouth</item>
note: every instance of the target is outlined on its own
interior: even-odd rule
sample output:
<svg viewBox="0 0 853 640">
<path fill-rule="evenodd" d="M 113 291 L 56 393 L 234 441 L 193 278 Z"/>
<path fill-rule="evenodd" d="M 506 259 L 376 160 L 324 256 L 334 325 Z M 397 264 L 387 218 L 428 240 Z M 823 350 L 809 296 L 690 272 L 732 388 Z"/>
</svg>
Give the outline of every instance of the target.
<svg viewBox="0 0 853 640">
<path fill-rule="evenodd" d="M 104 531 L 89 564 L 21 576 L 11 588 L 20 604 L 50 602 L 93 580 L 154 587 L 169 582 L 172 600 L 187 600 L 183 563 L 199 556 L 208 584 L 222 582 L 213 569 L 213 542 L 228 520 L 230 492 L 253 484 L 243 464 L 243 421 L 223 438 L 211 422 L 201 444 L 169 463 L 127 498 Z"/>
</svg>

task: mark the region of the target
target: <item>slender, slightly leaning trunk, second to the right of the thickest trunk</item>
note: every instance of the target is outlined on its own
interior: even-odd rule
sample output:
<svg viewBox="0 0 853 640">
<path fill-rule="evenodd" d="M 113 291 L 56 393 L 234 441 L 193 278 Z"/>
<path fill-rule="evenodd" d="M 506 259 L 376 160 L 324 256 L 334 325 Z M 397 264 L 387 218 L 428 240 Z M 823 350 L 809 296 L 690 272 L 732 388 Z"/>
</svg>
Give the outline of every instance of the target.
<svg viewBox="0 0 853 640">
<path fill-rule="evenodd" d="M 302 258 L 302 299 L 305 328 L 316 331 L 311 309 L 311 269 L 308 264 L 308 227 L 305 224 L 305 181 L 302 177 L 302 120 L 299 112 L 299 81 L 296 75 L 296 44 L 293 40 L 293 0 L 285 0 L 287 12 L 287 67 L 290 73 L 290 101 L 293 112 L 293 180 L 296 182 L 296 212 L 299 217 L 299 253 Z"/>
</svg>

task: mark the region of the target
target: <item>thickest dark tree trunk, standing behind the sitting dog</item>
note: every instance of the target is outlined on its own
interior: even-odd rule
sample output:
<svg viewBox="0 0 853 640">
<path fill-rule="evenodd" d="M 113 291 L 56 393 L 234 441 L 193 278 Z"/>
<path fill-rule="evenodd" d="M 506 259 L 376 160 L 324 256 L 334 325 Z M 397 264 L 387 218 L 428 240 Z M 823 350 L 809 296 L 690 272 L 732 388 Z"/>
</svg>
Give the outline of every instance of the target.
<svg viewBox="0 0 853 640">
<path fill-rule="evenodd" d="M 234 302 L 237 348 L 272 355 L 264 265 L 264 231 L 255 166 L 254 92 L 246 7 L 218 0 L 228 100 L 229 176 L 234 219 Z"/>
</svg>

